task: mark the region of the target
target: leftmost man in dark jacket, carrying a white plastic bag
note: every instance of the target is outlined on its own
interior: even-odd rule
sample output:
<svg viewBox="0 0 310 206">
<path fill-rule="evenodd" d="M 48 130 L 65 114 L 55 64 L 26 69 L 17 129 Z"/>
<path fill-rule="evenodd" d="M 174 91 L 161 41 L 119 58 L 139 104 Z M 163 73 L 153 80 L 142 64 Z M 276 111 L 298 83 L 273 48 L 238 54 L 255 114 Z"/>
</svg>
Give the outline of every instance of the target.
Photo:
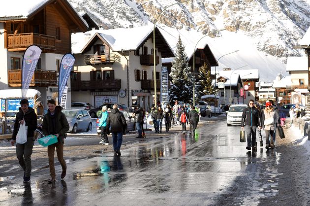
<svg viewBox="0 0 310 206">
<path fill-rule="evenodd" d="M 16 114 L 14 131 L 12 135 L 12 146 L 16 142 L 16 135 L 18 133 L 20 125 L 26 124 L 27 126 L 27 142 L 24 144 L 16 144 L 16 156 L 20 166 L 24 170 L 24 182 L 30 182 L 31 175 L 31 154 L 34 142 L 34 130 L 36 130 L 37 117 L 34 109 L 29 107 L 29 101 L 22 99 L 20 101 L 21 107 Z"/>
</svg>

